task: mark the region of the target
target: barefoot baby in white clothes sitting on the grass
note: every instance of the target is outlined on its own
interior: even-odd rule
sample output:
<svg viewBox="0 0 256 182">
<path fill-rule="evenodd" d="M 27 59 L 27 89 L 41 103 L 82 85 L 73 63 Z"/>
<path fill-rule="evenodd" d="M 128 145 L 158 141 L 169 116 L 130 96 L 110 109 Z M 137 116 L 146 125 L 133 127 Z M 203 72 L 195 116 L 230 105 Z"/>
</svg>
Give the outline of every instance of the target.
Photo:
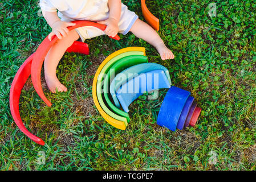
<svg viewBox="0 0 256 182">
<path fill-rule="evenodd" d="M 117 33 L 125 35 L 131 31 L 154 46 L 162 60 L 174 59 L 172 51 L 165 46 L 157 32 L 141 21 L 134 12 L 129 11 L 121 0 L 40 0 L 40 8 L 52 28 L 48 39 L 51 40 L 53 35 L 59 38 L 44 60 L 44 76 L 52 93 L 56 90 L 67 91 L 66 86 L 56 77 L 56 68 L 66 49 L 79 38 L 84 42 L 99 35 L 114 37 Z M 107 28 L 104 32 L 95 27 L 80 27 L 68 31 L 67 27 L 75 25 L 71 23 L 73 20 L 90 20 L 105 24 Z"/>
</svg>

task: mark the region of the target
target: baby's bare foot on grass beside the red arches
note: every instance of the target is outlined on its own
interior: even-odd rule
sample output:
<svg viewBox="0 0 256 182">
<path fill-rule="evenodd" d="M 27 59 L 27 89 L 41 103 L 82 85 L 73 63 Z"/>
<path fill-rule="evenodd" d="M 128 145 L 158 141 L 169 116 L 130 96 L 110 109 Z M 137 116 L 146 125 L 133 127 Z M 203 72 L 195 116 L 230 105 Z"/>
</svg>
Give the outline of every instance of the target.
<svg viewBox="0 0 256 182">
<path fill-rule="evenodd" d="M 56 90 L 58 90 L 58 92 L 67 92 L 66 86 L 62 85 L 56 76 L 50 76 L 45 73 L 44 77 L 46 79 L 46 84 L 52 93 L 56 93 Z"/>
</svg>

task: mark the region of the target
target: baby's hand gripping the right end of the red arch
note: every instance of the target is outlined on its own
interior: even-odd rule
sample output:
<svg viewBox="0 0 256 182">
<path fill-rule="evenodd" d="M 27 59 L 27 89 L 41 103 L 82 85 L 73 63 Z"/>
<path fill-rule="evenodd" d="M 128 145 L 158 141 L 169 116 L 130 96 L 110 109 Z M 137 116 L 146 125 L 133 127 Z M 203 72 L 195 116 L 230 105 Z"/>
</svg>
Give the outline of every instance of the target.
<svg viewBox="0 0 256 182">
<path fill-rule="evenodd" d="M 118 32 L 118 20 L 115 18 L 108 18 L 107 20 L 97 22 L 100 24 L 105 24 L 107 28 L 105 29 L 105 34 L 111 36 L 112 38 L 116 36 Z"/>
</svg>

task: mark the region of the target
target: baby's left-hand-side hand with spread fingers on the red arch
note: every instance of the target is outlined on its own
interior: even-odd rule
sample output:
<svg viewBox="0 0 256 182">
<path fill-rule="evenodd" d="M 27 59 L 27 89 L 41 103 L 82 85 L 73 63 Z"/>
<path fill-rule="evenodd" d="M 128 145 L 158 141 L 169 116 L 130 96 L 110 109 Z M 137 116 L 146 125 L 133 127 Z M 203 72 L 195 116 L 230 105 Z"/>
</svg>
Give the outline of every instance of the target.
<svg viewBox="0 0 256 182">
<path fill-rule="evenodd" d="M 52 32 L 48 35 L 48 39 L 51 41 L 52 36 L 56 35 L 59 39 L 62 39 L 63 37 L 66 37 L 69 30 L 67 27 L 75 26 L 75 23 L 71 22 L 63 22 L 62 20 L 59 20 L 51 25 Z"/>
</svg>

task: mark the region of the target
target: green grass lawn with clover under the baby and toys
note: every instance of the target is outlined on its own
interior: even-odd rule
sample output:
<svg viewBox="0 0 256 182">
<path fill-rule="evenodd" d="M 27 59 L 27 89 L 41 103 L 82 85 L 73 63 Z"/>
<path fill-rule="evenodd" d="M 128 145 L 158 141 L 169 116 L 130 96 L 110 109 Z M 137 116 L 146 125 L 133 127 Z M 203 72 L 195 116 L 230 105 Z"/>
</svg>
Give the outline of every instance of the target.
<svg viewBox="0 0 256 182">
<path fill-rule="evenodd" d="M 123 1 L 143 19 L 139 1 Z M 86 42 L 90 56 L 67 53 L 58 77 L 67 93 L 44 93 L 47 107 L 27 82 L 21 94 L 23 122 L 46 141 L 39 146 L 15 125 L 10 85 L 23 61 L 50 32 L 38 16 L 38 1 L 1 1 L 0 169 L 1 170 L 255 170 L 256 169 L 256 3 L 216 0 L 147 1 L 160 19 L 159 34 L 176 56 L 162 61 L 156 50 L 131 33 L 119 42 L 100 36 Z M 189 90 L 202 108 L 196 127 L 176 132 L 156 124 L 166 90 L 129 108 L 127 130 L 115 129 L 92 101 L 92 79 L 104 57 L 129 46 L 147 48 L 150 62 L 170 71 L 173 85 Z M 46 164 L 38 165 L 38 152 Z M 217 163 L 210 164 L 216 152 Z"/>
</svg>

